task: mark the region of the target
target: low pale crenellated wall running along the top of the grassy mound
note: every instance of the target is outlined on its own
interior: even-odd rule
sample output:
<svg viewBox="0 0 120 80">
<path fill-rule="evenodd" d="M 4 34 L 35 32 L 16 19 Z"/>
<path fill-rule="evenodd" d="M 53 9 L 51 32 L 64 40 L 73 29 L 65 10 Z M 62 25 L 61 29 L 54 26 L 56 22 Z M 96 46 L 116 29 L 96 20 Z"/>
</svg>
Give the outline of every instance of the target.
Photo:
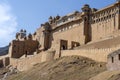
<svg viewBox="0 0 120 80">
<path fill-rule="evenodd" d="M 119 47 L 106 49 L 63 50 L 61 51 L 61 56 L 78 55 L 88 57 L 99 62 L 107 62 L 107 55 L 117 49 L 119 49 Z"/>
</svg>

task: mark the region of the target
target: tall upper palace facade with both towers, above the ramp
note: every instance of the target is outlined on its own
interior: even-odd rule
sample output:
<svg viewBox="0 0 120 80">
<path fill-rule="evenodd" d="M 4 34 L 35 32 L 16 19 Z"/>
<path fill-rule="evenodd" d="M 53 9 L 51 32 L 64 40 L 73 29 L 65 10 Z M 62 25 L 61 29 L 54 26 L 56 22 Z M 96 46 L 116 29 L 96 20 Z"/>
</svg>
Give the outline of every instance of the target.
<svg viewBox="0 0 120 80">
<path fill-rule="evenodd" d="M 39 50 L 72 49 L 110 37 L 120 29 L 120 3 L 97 10 L 88 4 L 82 12 L 75 11 L 63 17 L 50 17 L 34 35 Z"/>
</svg>

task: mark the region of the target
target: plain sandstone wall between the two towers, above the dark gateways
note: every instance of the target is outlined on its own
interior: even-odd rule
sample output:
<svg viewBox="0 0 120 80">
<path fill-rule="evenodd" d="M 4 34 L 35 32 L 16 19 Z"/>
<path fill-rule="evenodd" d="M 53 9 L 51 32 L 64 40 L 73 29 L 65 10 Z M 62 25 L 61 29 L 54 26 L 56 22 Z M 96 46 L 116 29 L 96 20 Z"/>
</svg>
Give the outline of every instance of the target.
<svg viewBox="0 0 120 80">
<path fill-rule="evenodd" d="M 83 26 L 79 22 L 75 25 L 69 24 L 66 25 L 66 27 L 60 27 L 60 29 L 56 30 L 53 33 L 53 41 L 52 41 L 52 48 L 56 48 L 56 45 L 59 44 L 59 40 L 67 40 L 68 41 L 68 47 L 71 48 L 71 42 L 79 42 L 82 44 L 84 41 L 83 39 Z"/>
</svg>

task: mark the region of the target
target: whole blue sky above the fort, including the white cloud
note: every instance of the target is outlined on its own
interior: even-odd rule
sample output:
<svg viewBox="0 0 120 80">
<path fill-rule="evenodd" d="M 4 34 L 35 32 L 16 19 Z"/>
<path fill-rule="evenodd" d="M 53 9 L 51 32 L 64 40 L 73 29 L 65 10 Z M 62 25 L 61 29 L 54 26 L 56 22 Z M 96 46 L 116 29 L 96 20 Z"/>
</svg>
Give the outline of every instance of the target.
<svg viewBox="0 0 120 80">
<path fill-rule="evenodd" d="M 84 4 L 102 8 L 116 0 L 0 0 L 0 47 L 7 45 L 20 29 L 33 33 L 49 16 L 81 11 Z"/>
</svg>

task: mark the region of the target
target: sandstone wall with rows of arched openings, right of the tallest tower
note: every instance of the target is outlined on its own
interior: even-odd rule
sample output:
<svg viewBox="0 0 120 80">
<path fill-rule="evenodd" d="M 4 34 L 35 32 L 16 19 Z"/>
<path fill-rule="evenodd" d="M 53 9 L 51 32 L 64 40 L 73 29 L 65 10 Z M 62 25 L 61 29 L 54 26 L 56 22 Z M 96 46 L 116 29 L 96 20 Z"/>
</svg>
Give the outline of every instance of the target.
<svg viewBox="0 0 120 80">
<path fill-rule="evenodd" d="M 92 16 L 92 41 L 99 40 L 119 29 L 119 7 L 111 5 Z"/>
</svg>

